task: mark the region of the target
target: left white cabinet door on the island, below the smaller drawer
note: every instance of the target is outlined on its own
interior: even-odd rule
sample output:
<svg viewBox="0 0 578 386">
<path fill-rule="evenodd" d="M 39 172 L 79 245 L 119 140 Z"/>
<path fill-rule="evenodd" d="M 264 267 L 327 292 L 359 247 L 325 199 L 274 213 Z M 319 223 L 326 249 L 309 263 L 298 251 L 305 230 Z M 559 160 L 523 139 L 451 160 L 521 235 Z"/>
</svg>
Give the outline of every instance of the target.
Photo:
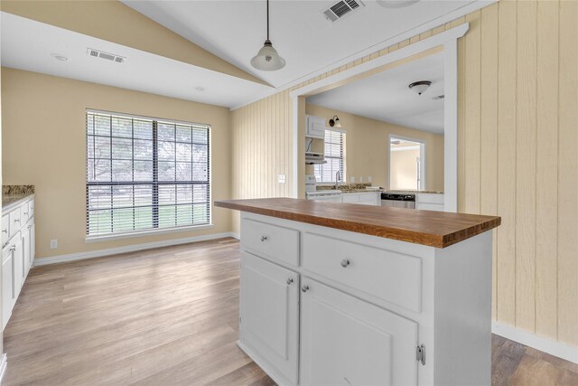
<svg viewBox="0 0 578 386">
<path fill-rule="evenodd" d="M 260 361 L 297 383 L 299 275 L 241 253 L 239 341 Z"/>
</svg>

